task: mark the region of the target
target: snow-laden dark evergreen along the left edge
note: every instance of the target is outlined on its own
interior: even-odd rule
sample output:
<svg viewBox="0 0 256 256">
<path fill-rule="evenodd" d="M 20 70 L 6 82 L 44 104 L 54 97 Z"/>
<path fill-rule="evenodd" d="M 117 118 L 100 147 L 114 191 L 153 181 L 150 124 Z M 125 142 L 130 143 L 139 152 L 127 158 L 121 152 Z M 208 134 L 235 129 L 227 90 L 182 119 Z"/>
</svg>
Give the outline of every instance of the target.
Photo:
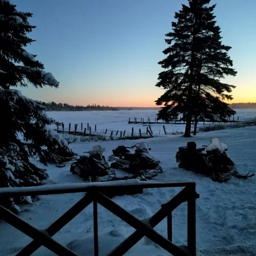
<svg viewBox="0 0 256 256">
<path fill-rule="evenodd" d="M 56 123 L 49 118 L 46 107 L 29 99 L 11 87 L 58 87 L 51 73 L 36 55 L 24 48 L 34 40 L 27 37 L 35 26 L 28 23 L 32 14 L 19 12 L 9 1 L 0 0 L 0 187 L 40 185 L 48 178 L 46 170 L 35 160 L 59 163 L 74 153 L 67 142 L 48 125 Z M 31 203 L 30 197 L 13 198 L 1 203 L 17 212 L 16 203 Z"/>
</svg>

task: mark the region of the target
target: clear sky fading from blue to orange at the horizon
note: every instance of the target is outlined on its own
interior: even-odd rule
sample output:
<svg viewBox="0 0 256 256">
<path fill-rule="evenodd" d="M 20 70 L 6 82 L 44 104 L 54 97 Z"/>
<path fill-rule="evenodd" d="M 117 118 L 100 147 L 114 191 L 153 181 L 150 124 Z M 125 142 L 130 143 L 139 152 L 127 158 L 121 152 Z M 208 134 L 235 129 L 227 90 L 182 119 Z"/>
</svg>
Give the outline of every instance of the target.
<svg viewBox="0 0 256 256">
<path fill-rule="evenodd" d="M 12 0 L 33 13 L 36 39 L 27 51 L 37 54 L 59 89 L 20 89 L 32 99 L 69 104 L 155 106 L 163 90 L 155 87 L 163 69 L 164 42 L 174 12 L 183 0 Z M 217 24 L 236 77 L 232 102 L 256 102 L 256 2 L 214 0 Z"/>
</svg>

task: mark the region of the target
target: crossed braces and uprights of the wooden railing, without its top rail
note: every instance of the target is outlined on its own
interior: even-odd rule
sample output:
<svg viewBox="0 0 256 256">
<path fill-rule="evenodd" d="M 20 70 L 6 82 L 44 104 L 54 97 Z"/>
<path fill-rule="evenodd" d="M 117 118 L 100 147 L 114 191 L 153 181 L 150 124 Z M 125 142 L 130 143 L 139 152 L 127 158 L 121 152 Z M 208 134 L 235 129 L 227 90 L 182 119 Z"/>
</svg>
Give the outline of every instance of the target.
<svg viewBox="0 0 256 256">
<path fill-rule="evenodd" d="M 162 205 L 161 209 L 156 212 L 147 221 L 142 221 L 133 216 L 130 212 L 123 209 L 110 198 L 104 195 L 104 191 L 100 187 L 94 187 L 88 190 L 87 194 L 80 199 L 74 206 L 72 206 L 65 214 L 52 223 L 47 229 L 39 230 L 29 224 L 28 222 L 20 219 L 11 211 L 0 205 L 0 218 L 7 223 L 27 234 L 33 241 L 19 251 L 16 255 L 31 255 L 41 245 L 53 251 L 57 255 L 77 255 L 67 247 L 59 244 L 52 238 L 62 227 L 68 224 L 74 217 L 76 217 L 84 208 L 93 202 L 93 219 L 94 219 L 94 255 L 98 255 L 98 214 L 97 203 L 101 204 L 106 209 L 110 210 L 119 217 L 121 220 L 131 225 L 136 229 L 128 238 L 121 244 L 113 249 L 108 255 L 123 255 L 130 250 L 137 242 L 144 236 L 151 239 L 154 243 L 164 248 L 166 251 L 173 255 L 185 256 L 196 255 L 196 199 L 199 195 L 196 193 L 195 183 L 186 183 L 183 188 L 169 202 Z M 132 187 L 131 187 L 132 188 Z M 131 189 L 129 188 L 129 189 Z M 42 193 L 41 193 L 42 194 Z M 52 193 L 54 194 L 54 193 Z M 56 193 L 58 194 L 58 193 Z M 187 201 L 187 251 L 184 251 L 179 246 L 172 242 L 172 211 L 177 208 L 181 203 Z M 159 224 L 165 217 L 167 217 L 167 239 L 161 236 L 153 228 Z"/>
</svg>

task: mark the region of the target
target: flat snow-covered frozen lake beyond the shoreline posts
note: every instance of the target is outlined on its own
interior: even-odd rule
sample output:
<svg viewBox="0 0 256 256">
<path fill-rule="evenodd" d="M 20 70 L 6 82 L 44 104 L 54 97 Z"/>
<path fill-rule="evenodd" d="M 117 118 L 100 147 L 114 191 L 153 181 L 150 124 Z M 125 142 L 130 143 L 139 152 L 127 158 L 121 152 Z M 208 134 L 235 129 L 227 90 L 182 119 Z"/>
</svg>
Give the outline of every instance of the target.
<svg viewBox="0 0 256 256">
<path fill-rule="evenodd" d="M 256 109 L 238 109 L 236 110 L 237 114 L 235 119 L 239 120 L 248 120 L 256 118 Z M 137 121 L 140 121 L 141 118 L 144 118 L 144 121 L 147 121 L 147 118 L 150 118 L 152 122 L 155 122 L 156 110 L 121 110 L 121 111 L 52 111 L 48 112 L 50 117 L 53 117 L 59 122 L 65 124 L 65 129 L 69 128 L 69 123 L 71 123 L 71 130 L 74 130 L 74 125 L 77 123 L 77 131 L 81 131 L 81 123 L 83 123 L 83 129 L 87 128 L 87 124 L 91 126 L 92 132 L 95 130 L 95 124 L 97 125 L 97 132 L 104 133 L 108 129 L 108 134 L 110 131 L 125 131 L 126 135 L 131 134 L 132 127 L 134 127 L 134 134 L 139 133 L 141 129 L 142 133 L 146 132 L 146 126 L 148 124 L 128 124 L 129 117 L 131 121 L 134 121 L 134 118 L 137 118 Z M 232 119 L 232 118 L 231 118 Z M 185 124 L 164 124 L 167 134 L 178 133 L 185 131 Z M 201 126 L 202 124 L 199 124 Z M 152 131 L 154 135 L 164 134 L 163 124 L 161 121 L 158 124 L 151 124 Z M 56 128 L 56 126 L 53 126 Z M 194 125 L 192 126 L 194 129 Z M 62 129 L 61 127 L 59 128 Z"/>
</svg>

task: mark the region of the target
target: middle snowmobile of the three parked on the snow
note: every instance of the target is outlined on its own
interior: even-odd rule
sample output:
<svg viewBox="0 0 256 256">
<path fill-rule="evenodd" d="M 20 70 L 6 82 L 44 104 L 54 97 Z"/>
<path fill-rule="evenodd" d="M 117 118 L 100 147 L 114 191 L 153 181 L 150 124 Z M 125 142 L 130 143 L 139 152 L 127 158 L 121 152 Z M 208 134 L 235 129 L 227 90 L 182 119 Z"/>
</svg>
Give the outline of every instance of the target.
<svg viewBox="0 0 256 256">
<path fill-rule="evenodd" d="M 128 148 L 136 148 L 135 153 L 131 153 Z M 151 148 L 145 142 L 130 147 L 118 146 L 108 160 L 109 162 L 114 161 L 111 163 L 111 168 L 121 169 L 131 174 L 145 175 L 149 170 L 159 170 L 162 173 L 161 162 L 156 160 L 150 151 Z"/>
</svg>

